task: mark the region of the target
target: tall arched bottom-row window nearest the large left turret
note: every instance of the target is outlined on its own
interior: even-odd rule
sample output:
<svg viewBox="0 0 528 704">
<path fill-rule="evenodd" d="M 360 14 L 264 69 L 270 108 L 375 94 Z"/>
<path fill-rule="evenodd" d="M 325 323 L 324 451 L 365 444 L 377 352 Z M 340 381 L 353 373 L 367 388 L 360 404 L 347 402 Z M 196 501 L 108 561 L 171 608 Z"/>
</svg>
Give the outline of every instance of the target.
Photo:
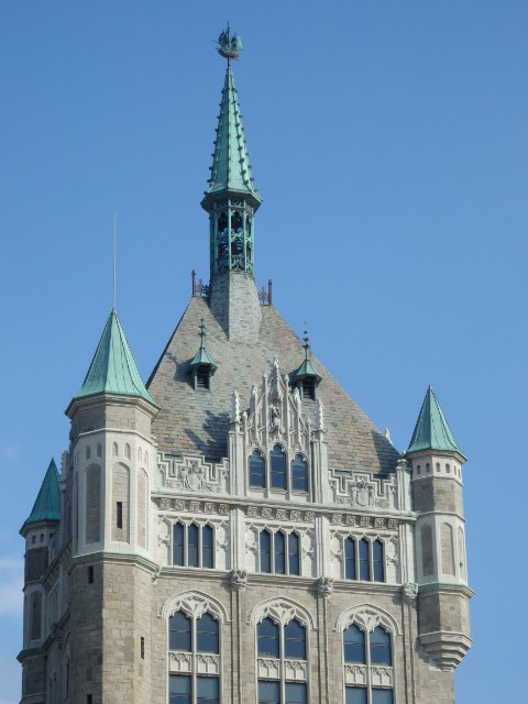
<svg viewBox="0 0 528 704">
<path fill-rule="evenodd" d="M 175 658 L 169 658 L 172 670 L 173 662 L 185 663 L 185 674 L 174 671 L 169 673 L 169 704 L 219 704 L 218 620 L 208 612 L 198 618 L 182 610 L 176 612 L 168 619 L 168 649 L 170 653 L 176 651 Z M 205 671 L 211 674 L 201 674 Z"/>
</svg>

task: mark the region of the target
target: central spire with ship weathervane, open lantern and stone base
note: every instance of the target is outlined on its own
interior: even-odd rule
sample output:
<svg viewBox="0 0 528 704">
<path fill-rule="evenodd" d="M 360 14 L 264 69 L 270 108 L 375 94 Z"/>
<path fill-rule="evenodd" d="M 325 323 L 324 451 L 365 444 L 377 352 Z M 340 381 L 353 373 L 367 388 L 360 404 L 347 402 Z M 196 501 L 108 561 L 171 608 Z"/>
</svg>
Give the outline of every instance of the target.
<svg viewBox="0 0 528 704">
<path fill-rule="evenodd" d="M 231 58 L 240 38 L 222 33 L 228 59 L 209 187 L 201 207 L 209 213 L 211 310 L 230 339 L 253 341 L 261 323 L 254 280 L 254 216 L 262 198 L 253 186 Z M 233 42 L 238 46 L 231 48 Z"/>
</svg>

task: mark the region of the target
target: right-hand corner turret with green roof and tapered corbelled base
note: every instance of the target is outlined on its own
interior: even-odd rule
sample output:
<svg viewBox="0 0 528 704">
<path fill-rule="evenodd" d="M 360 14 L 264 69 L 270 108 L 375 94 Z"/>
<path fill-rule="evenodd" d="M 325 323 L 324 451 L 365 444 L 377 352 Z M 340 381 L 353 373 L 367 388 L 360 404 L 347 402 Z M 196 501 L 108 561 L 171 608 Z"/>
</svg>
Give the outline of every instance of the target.
<svg viewBox="0 0 528 704">
<path fill-rule="evenodd" d="M 429 386 L 407 450 L 416 524 L 419 641 L 443 670 L 471 646 L 460 450 Z"/>
</svg>

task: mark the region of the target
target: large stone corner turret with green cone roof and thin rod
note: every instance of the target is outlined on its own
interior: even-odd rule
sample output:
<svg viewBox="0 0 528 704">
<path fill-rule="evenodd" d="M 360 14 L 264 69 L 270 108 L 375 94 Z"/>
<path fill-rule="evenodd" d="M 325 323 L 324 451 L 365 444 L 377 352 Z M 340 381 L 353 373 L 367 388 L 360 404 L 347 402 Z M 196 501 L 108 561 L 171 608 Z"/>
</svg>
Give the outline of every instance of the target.
<svg viewBox="0 0 528 704">
<path fill-rule="evenodd" d="M 157 410 L 112 310 L 66 410 L 72 419 L 72 639 L 79 644 L 72 660 L 74 702 L 98 704 L 110 696 L 109 683 L 101 684 L 101 657 L 114 669 L 116 681 L 127 683 L 124 698 L 134 698 L 130 688 L 135 683 L 127 672 L 146 637 L 147 585 L 156 569 L 150 493 L 156 477 L 151 425 Z M 112 629 L 129 644 L 119 651 L 108 645 Z M 144 667 L 146 672 L 150 666 Z M 136 685 L 141 701 L 150 701 L 147 682 Z"/>
</svg>

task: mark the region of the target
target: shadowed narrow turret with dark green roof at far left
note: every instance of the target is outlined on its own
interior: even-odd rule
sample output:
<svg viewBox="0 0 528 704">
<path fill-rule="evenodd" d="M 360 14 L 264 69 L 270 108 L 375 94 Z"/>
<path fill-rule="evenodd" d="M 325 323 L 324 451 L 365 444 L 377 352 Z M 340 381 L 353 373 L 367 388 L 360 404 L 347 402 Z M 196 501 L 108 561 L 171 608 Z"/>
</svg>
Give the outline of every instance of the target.
<svg viewBox="0 0 528 704">
<path fill-rule="evenodd" d="M 55 461 L 50 462 L 32 512 L 20 529 L 25 540 L 24 631 L 19 660 L 23 667 L 22 702 L 45 700 L 46 593 L 43 578 L 50 565 L 50 544 L 61 521 L 61 490 Z"/>
</svg>

